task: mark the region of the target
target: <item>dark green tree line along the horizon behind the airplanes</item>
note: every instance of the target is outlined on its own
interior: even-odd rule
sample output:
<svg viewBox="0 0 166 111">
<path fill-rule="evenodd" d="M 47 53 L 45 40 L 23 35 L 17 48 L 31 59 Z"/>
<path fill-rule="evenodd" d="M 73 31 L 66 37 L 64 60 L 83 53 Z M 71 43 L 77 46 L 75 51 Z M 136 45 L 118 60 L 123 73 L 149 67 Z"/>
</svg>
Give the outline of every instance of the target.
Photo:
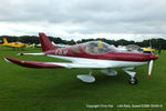
<svg viewBox="0 0 166 111">
<path fill-rule="evenodd" d="M 11 37 L 11 36 L 1 36 L 0 40 L 2 42 L 2 38 L 7 38 L 7 40 L 9 42 L 22 42 L 22 43 L 27 43 L 27 44 L 39 44 L 40 40 L 39 37 L 37 36 L 21 36 L 21 37 Z M 101 40 L 103 42 L 106 42 L 108 44 L 114 44 L 115 47 L 117 46 L 127 46 L 127 44 L 137 44 L 139 47 L 149 47 L 149 40 L 143 40 L 141 42 L 135 42 L 135 41 L 128 41 L 128 40 L 108 40 L 108 39 L 104 39 L 104 38 L 97 38 L 97 39 L 82 39 L 82 40 L 77 40 L 74 41 L 72 40 L 62 40 L 60 37 L 49 37 L 49 39 L 51 41 L 53 41 L 54 43 L 63 43 L 63 44 L 76 44 L 76 43 L 83 43 L 83 42 L 87 42 L 87 41 L 96 41 L 96 40 Z M 166 40 L 158 38 L 158 39 L 151 39 L 151 42 L 153 44 L 153 48 L 155 49 L 166 49 Z"/>
</svg>

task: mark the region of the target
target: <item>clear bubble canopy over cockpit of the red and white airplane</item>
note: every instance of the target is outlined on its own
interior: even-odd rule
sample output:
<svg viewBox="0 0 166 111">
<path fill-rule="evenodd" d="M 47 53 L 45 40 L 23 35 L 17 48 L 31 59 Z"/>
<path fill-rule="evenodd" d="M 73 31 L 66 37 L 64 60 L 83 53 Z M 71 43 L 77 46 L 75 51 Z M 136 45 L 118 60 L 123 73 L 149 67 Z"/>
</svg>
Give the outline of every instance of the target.
<svg viewBox="0 0 166 111">
<path fill-rule="evenodd" d="M 116 51 L 116 49 L 107 43 L 102 41 L 90 41 L 83 43 L 83 50 L 89 54 L 104 54 L 110 51 Z"/>
</svg>

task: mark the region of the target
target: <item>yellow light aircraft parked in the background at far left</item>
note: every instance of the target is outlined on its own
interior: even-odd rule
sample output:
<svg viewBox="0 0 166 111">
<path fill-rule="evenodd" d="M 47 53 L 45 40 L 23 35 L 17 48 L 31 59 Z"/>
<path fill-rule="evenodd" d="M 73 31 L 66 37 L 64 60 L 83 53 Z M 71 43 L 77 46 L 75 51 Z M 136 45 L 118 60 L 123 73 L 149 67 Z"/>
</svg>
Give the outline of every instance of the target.
<svg viewBox="0 0 166 111">
<path fill-rule="evenodd" d="M 10 47 L 10 48 L 13 48 L 13 50 L 15 48 L 22 48 L 23 49 L 24 47 L 27 47 L 25 43 L 20 43 L 20 42 L 11 42 L 11 43 L 9 43 L 6 38 L 3 38 L 3 43 L 0 44 L 0 46 L 2 46 L 2 47 Z"/>
</svg>

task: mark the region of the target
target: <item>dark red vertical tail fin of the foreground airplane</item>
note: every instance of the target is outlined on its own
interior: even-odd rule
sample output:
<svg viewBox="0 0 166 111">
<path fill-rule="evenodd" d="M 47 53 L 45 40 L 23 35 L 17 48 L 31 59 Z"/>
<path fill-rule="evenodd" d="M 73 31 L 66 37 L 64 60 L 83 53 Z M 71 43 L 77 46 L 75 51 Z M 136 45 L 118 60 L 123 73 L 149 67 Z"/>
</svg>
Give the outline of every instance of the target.
<svg viewBox="0 0 166 111">
<path fill-rule="evenodd" d="M 40 32 L 39 37 L 40 37 L 40 43 L 43 52 L 56 49 L 44 33 Z"/>
</svg>

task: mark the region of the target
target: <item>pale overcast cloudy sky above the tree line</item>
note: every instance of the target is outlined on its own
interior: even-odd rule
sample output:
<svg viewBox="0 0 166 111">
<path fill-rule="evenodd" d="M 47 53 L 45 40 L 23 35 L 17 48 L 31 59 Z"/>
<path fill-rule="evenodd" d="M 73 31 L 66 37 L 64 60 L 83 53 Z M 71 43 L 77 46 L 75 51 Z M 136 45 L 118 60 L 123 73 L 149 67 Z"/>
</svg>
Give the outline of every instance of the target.
<svg viewBox="0 0 166 111">
<path fill-rule="evenodd" d="M 166 0 L 0 0 L 0 36 L 166 39 Z"/>
</svg>

